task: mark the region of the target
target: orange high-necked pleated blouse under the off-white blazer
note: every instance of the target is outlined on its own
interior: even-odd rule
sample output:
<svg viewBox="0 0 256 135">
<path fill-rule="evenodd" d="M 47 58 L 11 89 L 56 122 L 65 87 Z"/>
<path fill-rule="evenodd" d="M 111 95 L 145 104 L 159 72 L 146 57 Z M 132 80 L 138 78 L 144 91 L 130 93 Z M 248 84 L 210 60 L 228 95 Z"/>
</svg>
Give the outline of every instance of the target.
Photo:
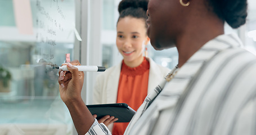
<svg viewBox="0 0 256 135">
<path fill-rule="evenodd" d="M 130 68 L 122 62 L 117 103 L 126 103 L 137 111 L 147 96 L 149 61 L 144 57 L 141 65 Z M 124 134 L 129 123 L 114 123 L 113 135 Z"/>
</svg>

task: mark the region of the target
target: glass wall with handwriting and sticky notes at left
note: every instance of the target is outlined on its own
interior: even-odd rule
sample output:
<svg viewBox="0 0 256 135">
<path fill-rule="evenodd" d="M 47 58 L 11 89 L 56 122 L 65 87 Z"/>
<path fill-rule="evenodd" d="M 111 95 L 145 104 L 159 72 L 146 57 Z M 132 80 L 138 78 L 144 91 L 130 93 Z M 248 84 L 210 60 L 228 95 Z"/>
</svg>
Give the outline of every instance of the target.
<svg viewBox="0 0 256 135">
<path fill-rule="evenodd" d="M 72 134 L 58 71 L 73 60 L 74 0 L 0 0 L 0 134 Z"/>
</svg>

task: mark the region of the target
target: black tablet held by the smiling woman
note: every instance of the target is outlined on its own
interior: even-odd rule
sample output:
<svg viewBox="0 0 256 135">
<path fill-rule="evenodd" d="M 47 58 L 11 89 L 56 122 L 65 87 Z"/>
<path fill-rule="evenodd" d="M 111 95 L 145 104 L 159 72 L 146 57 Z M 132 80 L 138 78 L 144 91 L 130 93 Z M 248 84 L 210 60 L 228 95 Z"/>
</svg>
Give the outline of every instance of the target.
<svg viewBox="0 0 256 135">
<path fill-rule="evenodd" d="M 136 111 L 125 103 L 87 105 L 87 107 L 92 115 L 97 115 L 97 119 L 110 115 L 118 118 L 116 122 L 130 122 L 136 113 Z"/>
</svg>

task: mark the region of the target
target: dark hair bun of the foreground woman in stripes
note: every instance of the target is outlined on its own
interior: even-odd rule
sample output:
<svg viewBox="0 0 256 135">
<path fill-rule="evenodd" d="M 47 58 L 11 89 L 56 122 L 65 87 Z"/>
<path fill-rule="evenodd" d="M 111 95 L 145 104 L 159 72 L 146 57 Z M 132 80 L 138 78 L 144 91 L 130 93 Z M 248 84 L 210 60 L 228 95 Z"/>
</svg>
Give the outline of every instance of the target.
<svg viewBox="0 0 256 135">
<path fill-rule="evenodd" d="M 247 0 L 209 0 L 209 6 L 232 28 L 239 28 L 246 22 Z"/>
</svg>

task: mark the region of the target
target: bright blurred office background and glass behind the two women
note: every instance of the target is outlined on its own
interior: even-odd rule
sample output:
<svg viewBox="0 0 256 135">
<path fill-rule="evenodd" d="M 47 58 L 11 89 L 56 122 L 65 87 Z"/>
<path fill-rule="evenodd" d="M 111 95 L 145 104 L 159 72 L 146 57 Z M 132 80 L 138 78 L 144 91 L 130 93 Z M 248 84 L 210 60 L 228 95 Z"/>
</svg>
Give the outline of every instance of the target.
<svg viewBox="0 0 256 135">
<path fill-rule="evenodd" d="M 59 96 L 58 70 L 66 61 L 109 68 L 122 56 L 115 46 L 117 7 L 120 0 L 27 0 L 32 32 L 19 21 L 27 19 L 15 0 L 0 0 L 0 135 L 77 134 L 70 114 Z M 19 1 L 18 1 L 19 2 Z M 248 0 L 248 21 L 239 29 L 226 25 L 225 33 L 237 33 L 246 50 L 256 55 L 256 1 Z M 21 9 L 19 9 L 19 7 Z M 21 17 L 21 18 L 20 18 Z M 28 17 L 29 18 L 29 17 Z M 81 40 L 82 39 L 82 40 Z M 173 68 L 176 48 L 155 51 L 149 57 Z M 100 73 L 86 73 L 82 96 L 92 103 L 92 89 Z"/>
</svg>

